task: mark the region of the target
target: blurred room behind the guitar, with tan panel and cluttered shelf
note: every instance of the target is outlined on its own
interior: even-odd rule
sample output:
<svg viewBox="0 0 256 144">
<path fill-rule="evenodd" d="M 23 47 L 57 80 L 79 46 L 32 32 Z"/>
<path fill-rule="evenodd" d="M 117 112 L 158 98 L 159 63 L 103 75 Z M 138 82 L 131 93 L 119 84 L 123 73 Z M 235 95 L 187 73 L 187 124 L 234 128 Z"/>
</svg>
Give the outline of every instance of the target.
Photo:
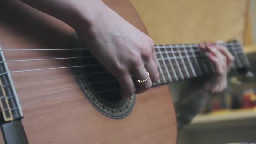
<svg viewBox="0 0 256 144">
<path fill-rule="evenodd" d="M 256 0 L 131 0 L 156 44 L 236 39 L 251 67 L 178 133 L 178 144 L 256 143 Z"/>
</svg>

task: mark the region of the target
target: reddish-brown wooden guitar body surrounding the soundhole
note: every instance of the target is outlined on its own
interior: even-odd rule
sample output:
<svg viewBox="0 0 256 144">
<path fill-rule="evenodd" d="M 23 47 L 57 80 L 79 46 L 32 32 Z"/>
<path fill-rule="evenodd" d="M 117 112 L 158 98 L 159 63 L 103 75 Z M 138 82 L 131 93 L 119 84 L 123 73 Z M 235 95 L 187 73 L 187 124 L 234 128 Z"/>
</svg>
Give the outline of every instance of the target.
<svg viewBox="0 0 256 144">
<path fill-rule="evenodd" d="M 104 0 L 124 19 L 147 33 L 126 0 Z M 19 1 L 0 2 L 2 49 L 69 48 L 74 30 Z M 67 51 L 3 51 L 5 59 L 70 57 Z M 9 71 L 69 67 L 69 59 L 7 62 Z M 31 144 L 176 143 L 176 116 L 168 85 L 137 95 L 131 113 L 114 119 L 86 99 L 71 68 L 13 72 L 11 77 Z"/>
</svg>

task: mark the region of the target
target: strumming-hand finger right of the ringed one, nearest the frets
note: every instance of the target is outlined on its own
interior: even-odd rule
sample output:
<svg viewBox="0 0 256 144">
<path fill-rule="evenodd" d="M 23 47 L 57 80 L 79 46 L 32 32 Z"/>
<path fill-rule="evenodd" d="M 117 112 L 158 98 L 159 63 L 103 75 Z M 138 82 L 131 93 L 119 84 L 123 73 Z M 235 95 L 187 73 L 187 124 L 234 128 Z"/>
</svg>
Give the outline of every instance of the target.
<svg viewBox="0 0 256 144">
<path fill-rule="evenodd" d="M 153 61 L 153 59 L 149 60 L 149 63 L 145 64 L 145 68 L 147 69 L 147 72 L 149 72 L 150 79 L 152 83 L 155 83 L 159 79 L 159 72 L 157 69 L 157 65 Z"/>
</svg>

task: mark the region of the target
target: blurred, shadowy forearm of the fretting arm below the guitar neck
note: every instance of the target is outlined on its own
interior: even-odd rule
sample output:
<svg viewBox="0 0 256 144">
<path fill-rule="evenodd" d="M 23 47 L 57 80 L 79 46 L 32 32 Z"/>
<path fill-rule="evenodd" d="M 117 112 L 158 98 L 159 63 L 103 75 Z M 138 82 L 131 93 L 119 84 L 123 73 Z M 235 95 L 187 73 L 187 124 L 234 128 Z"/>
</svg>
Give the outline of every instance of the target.
<svg viewBox="0 0 256 144">
<path fill-rule="evenodd" d="M 181 89 L 179 101 L 175 103 L 175 111 L 179 129 L 191 123 L 192 119 L 202 112 L 206 104 L 213 98 L 211 88 L 205 80 L 189 81 Z"/>
</svg>

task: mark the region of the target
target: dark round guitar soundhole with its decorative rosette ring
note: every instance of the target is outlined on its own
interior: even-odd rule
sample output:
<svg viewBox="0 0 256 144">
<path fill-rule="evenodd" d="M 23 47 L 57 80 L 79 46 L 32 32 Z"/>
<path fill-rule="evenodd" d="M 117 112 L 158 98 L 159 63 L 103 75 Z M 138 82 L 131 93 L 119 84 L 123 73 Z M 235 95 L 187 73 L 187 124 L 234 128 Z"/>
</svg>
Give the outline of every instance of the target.
<svg viewBox="0 0 256 144">
<path fill-rule="evenodd" d="M 120 96 L 120 85 L 85 46 L 74 33 L 72 37 L 74 75 L 77 84 L 85 94 L 88 101 L 102 114 L 112 118 L 127 116 L 133 109 L 136 96 L 129 98 Z"/>
</svg>

